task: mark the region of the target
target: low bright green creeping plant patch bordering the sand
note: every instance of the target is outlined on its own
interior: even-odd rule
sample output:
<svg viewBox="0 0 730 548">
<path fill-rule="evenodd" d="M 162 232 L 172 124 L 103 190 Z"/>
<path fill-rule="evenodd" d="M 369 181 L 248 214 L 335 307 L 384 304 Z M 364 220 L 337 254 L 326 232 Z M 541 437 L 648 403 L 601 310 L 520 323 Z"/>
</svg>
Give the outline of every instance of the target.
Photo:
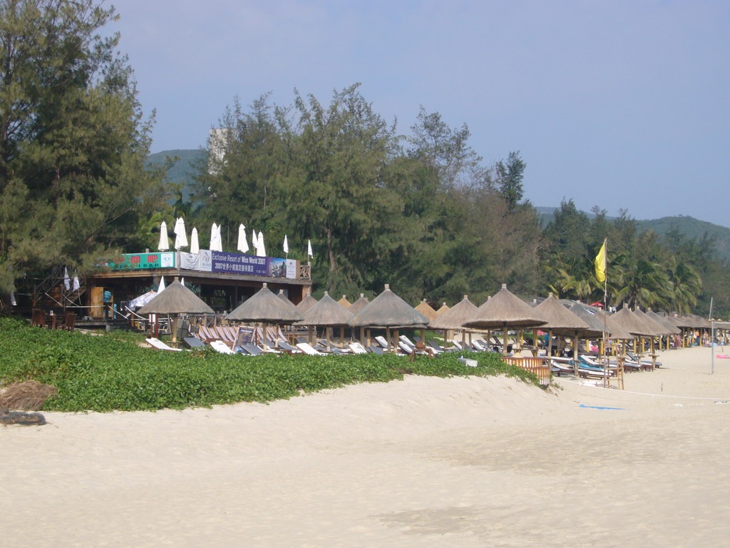
<svg viewBox="0 0 730 548">
<path fill-rule="evenodd" d="M 457 361 L 461 354 L 261 357 L 213 351 L 165 352 L 139 346 L 142 336 L 115 332 L 91 337 L 82 332 L 43 330 L 26 321 L 0 317 L 3 351 L 0 386 L 34 380 L 58 389 L 45 411 L 153 411 L 242 401 L 269 402 L 358 382 L 387 382 L 404 373 L 424 376 L 537 378 L 506 365 L 497 354 L 469 354 L 476 368 Z"/>
</svg>

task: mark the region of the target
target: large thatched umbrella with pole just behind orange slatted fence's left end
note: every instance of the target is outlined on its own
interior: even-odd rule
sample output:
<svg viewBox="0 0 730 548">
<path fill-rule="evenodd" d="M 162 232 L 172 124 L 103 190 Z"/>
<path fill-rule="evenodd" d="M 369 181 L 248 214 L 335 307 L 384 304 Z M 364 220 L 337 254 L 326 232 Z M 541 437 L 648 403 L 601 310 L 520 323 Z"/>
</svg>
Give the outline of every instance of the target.
<svg viewBox="0 0 730 548">
<path fill-rule="evenodd" d="M 508 327 L 525 329 L 540 327 L 545 323 L 547 322 L 542 319 L 539 312 L 510 293 L 507 289 L 507 283 L 502 283 L 502 289 L 477 308 L 474 315 L 464 322 L 464 327 L 489 330 L 501 329 L 504 337 L 502 352 L 507 354 Z"/>
</svg>

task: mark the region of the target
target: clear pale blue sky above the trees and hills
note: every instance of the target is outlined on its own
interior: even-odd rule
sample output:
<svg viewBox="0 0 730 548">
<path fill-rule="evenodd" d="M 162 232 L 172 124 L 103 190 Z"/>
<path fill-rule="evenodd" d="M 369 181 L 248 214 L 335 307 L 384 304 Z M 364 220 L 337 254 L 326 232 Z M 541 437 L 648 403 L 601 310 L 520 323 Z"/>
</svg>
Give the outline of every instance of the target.
<svg viewBox="0 0 730 548">
<path fill-rule="evenodd" d="M 730 227 L 730 2 L 120 0 L 153 152 L 199 148 L 234 96 L 361 93 L 407 134 L 420 105 L 525 197 Z"/>
</svg>

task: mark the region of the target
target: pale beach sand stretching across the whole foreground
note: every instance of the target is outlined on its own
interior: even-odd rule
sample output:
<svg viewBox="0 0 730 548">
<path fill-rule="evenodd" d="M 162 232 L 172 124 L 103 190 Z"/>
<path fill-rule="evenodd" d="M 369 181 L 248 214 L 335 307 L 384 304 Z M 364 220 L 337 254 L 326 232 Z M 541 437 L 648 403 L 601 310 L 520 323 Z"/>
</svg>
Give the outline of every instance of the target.
<svg viewBox="0 0 730 548">
<path fill-rule="evenodd" d="M 0 427 L 0 546 L 726 546 L 730 359 L 710 376 L 710 352 L 666 351 L 623 392 L 409 377 L 49 413 Z"/>
</svg>

